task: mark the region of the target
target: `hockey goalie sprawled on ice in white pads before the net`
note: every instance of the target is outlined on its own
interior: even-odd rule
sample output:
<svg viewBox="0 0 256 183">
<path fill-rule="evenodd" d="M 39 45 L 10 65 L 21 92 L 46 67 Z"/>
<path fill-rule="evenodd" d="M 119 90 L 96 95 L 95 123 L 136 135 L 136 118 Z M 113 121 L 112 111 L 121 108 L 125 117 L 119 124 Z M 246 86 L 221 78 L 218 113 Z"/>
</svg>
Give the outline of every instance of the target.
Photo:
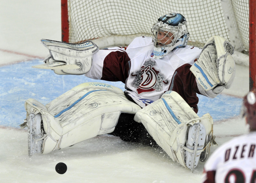
<svg viewBox="0 0 256 183">
<path fill-rule="evenodd" d="M 228 89 L 235 62 L 233 46 L 220 36 L 212 36 L 203 49 L 187 45 L 188 39 L 187 22 L 176 12 L 160 17 L 151 37 L 137 37 L 127 47 L 99 49 L 91 41 L 42 39 L 50 55 L 35 68 L 121 81 L 126 91 L 91 82 L 45 106 L 28 99 L 23 126 L 28 127 L 29 155 L 111 134 L 160 146 L 173 161 L 193 171 L 200 160 L 207 160 L 215 144 L 212 117 L 196 114 L 196 94 L 214 98 Z"/>
</svg>

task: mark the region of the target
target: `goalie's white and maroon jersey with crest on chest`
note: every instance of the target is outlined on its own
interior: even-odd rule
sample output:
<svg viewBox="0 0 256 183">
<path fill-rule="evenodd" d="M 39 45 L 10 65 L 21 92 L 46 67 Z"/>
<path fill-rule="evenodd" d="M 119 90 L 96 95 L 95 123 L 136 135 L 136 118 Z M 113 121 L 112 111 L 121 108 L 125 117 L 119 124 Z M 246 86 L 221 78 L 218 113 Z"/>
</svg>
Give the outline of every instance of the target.
<svg viewBox="0 0 256 183">
<path fill-rule="evenodd" d="M 189 65 L 186 68 L 189 76 L 183 73 L 178 73 L 178 75 L 184 77 L 184 80 L 191 78 L 189 68 L 202 51 L 198 47 L 186 46 L 175 49 L 161 59 L 153 59 L 153 48 L 152 38 L 142 36 L 135 38 L 127 48 L 115 47 L 99 50 L 93 55 L 92 68 L 85 76 L 93 79 L 122 81 L 127 89 L 126 96 L 141 107 L 145 107 L 160 99 L 164 92 L 173 89 L 172 78 L 181 66 Z M 195 83 L 195 79 L 191 78 L 190 81 L 182 79 L 180 84 L 188 85 L 189 90 L 193 87 L 198 90 Z M 176 92 L 182 96 L 187 91 Z M 196 97 L 194 93 L 189 95 L 191 96 Z M 191 103 L 196 103 L 195 99 L 192 100 Z M 189 101 L 187 102 L 189 104 Z"/>
</svg>

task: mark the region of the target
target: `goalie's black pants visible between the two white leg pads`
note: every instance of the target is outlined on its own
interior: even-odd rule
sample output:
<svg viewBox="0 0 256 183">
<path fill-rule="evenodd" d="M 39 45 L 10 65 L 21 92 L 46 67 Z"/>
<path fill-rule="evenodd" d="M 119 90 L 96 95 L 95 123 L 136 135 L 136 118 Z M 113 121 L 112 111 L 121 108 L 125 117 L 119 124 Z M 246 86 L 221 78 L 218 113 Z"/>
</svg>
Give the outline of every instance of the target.
<svg viewBox="0 0 256 183">
<path fill-rule="evenodd" d="M 120 137 L 124 141 L 159 147 L 143 124 L 134 121 L 133 117 L 133 114 L 121 113 L 115 130 L 109 134 Z"/>
</svg>

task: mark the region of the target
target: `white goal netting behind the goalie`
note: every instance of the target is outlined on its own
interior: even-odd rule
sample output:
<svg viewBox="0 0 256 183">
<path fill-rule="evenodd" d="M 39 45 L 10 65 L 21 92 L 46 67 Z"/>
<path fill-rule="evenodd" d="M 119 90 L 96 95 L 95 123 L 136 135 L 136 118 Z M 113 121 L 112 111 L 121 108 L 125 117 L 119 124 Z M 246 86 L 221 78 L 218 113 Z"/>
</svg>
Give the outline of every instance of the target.
<svg viewBox="0 0 256 183">
<path fill-rule="evenodd" d="M 234 25 L 237 24 L 240 34 L 237 36 L 248 50 L 249 0 L 231 2 Z M 148 36 L 153 23 L 171 12 L 186 18 L 192 44 L 202 46 L 215 35 L 230 37 L 221 0 L 68 0 L 69 42 L 119 35 Z"/>
</svg>

